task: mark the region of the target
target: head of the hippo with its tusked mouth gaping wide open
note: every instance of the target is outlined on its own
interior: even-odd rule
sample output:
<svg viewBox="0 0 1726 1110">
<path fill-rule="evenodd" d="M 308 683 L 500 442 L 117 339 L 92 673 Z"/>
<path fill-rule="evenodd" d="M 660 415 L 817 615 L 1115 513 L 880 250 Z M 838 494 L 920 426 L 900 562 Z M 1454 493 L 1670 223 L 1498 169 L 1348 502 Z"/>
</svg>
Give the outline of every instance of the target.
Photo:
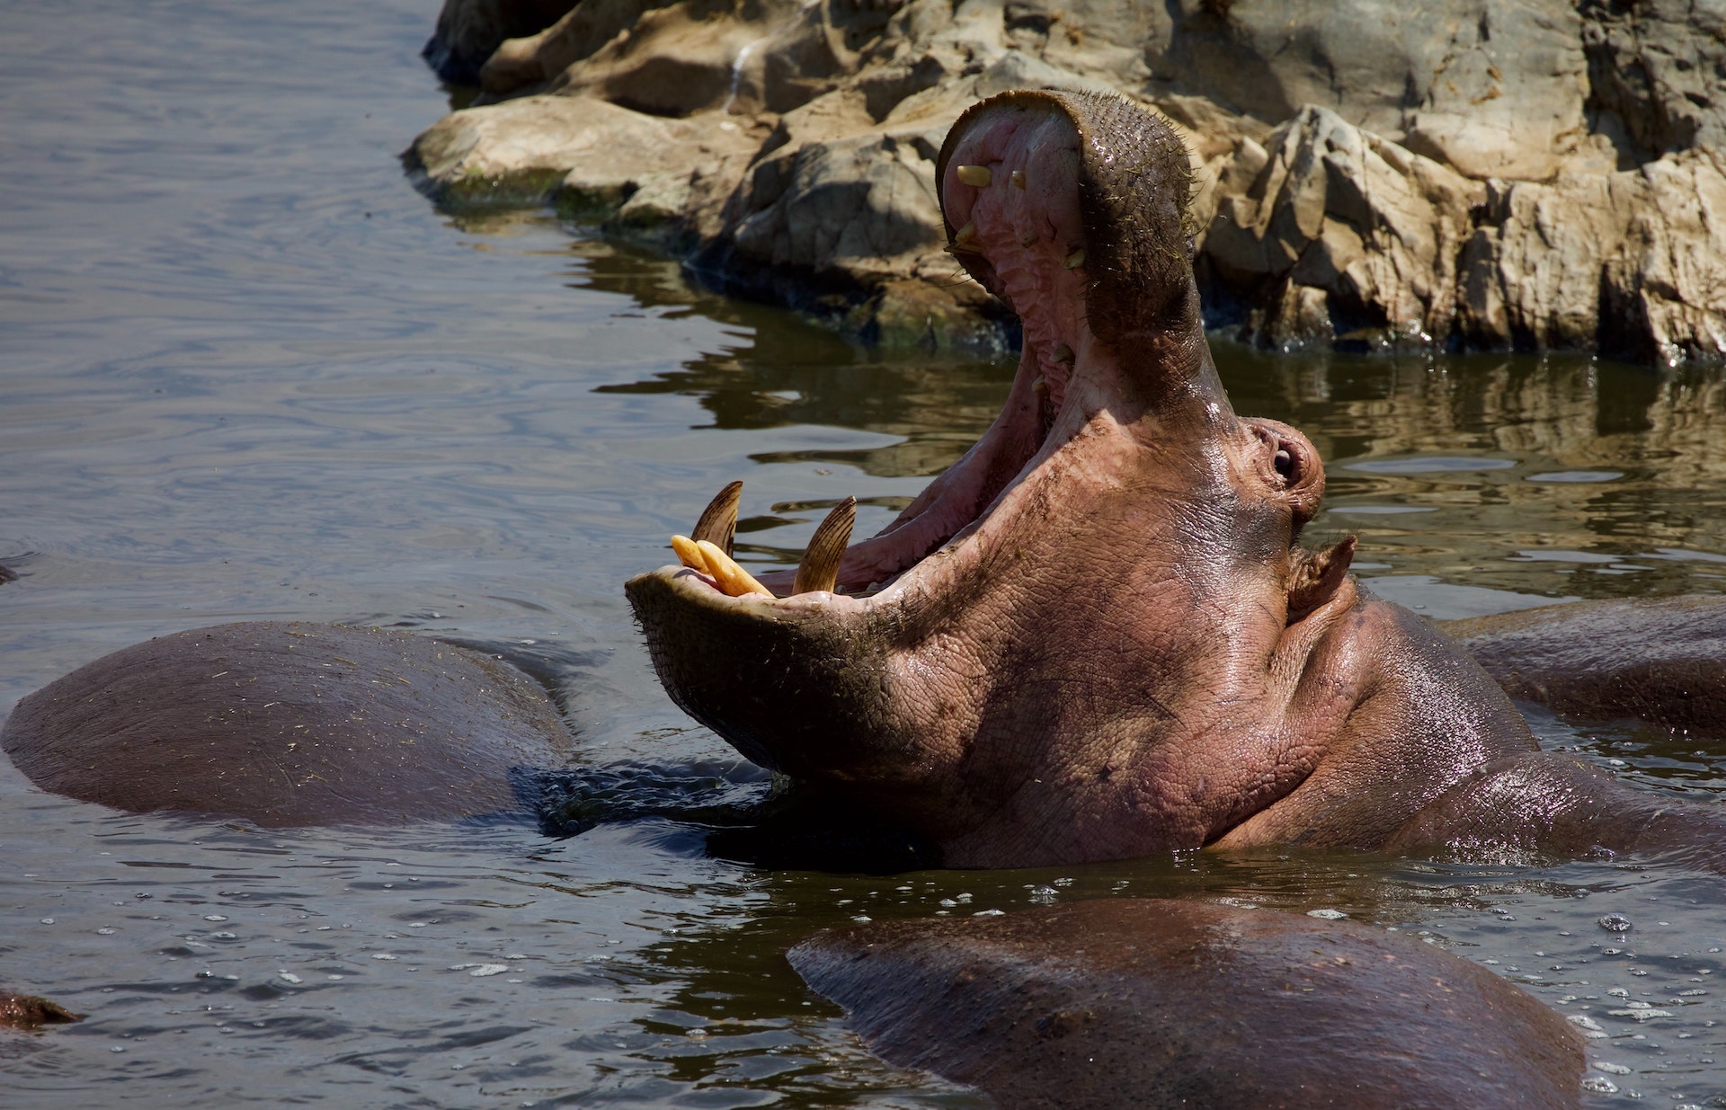
<svg viewBox="0 0 1726 1110">
<path fill-rule="evenodd" d="M 1326 647 L 1353 539 L 1296 546 L 1317 454 L 1224 395 L 1187 154 L 1158 117 L 1005 93 L 937 174 L 949 250 L 1024 321 L 1001 416 L 880 535 L 846 547 L 835 509 L 791 580 L 727 558 L 728 487 L 683 566 L 627 585 L 654 666 L 749 760 L 951 865 L 1213 842 L 1300 785 L 1308 737 L 1357 701 Z"/>
</svg>

